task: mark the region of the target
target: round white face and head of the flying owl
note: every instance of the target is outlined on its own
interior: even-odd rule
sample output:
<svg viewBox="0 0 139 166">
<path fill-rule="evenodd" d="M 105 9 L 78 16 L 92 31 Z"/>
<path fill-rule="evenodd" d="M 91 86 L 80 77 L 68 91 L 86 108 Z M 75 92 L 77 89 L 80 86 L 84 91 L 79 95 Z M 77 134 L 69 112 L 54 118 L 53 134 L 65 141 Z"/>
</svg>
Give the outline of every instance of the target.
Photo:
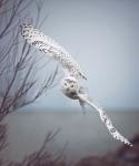
<svg viewBox="0 0 139 166">
<path fill-rule="evenodd" d="M 79 83 L 73 76 L 63 77 L 61 81 L 61 91 L 70 98 L 78 98 Z"/>
</svg>

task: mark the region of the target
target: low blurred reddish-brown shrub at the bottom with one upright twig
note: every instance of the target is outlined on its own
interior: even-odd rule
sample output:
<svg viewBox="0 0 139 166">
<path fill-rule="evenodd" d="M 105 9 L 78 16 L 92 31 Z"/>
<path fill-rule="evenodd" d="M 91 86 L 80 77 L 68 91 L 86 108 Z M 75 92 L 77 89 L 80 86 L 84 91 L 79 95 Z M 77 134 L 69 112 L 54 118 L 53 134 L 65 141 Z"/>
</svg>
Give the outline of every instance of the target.
<svg viewBox="0 0 139 166">
<path fill-rule="evenodd" d="M 63 157 L 63 152 L 56 155 L 52 152 L 48 151 L 47 147 L 50 142 L 54 141 L 58 133 L 59 129 L 54 133 L 49 132 L 43 142 L 43 145 L 39 151 L 27 156 L 21 163 L 12 162 L 9 164 L 9 166 L 67 166 Z"/>
</svg>

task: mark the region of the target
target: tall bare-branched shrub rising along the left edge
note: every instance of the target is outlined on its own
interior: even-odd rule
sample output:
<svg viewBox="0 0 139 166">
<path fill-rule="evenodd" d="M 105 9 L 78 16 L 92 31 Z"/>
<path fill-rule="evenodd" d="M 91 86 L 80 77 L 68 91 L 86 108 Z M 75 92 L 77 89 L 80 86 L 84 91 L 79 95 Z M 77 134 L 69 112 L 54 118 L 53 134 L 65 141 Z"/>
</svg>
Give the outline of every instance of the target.
<svg viewBox="0 0 139 166">
<path fill-rule="evenodd" d="M 40 27 L 41 1 L 2 0 L 0 2 L 0 121 L 17 108 L 33 103 L 52 86 L 58 68 L 47 75 L 42 86 L 36 92 L 38 80 L 34 76 L 36 56 L 26 41 L 20 38 L 20 23 L 26 18 L 24 11 L 36 3 L 34 24 Z M 32 92 L 32 93 L 31 93 Z M 31 95 L 30 95 L 31 94 Z"/>
</svg>

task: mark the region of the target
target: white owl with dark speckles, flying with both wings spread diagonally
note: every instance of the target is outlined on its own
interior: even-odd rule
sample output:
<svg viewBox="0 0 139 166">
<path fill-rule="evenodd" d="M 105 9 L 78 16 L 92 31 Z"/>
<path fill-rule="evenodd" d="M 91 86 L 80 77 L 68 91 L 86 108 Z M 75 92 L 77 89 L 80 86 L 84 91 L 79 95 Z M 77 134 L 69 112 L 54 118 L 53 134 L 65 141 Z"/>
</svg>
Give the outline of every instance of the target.
<svg viewBox="0 0 139 166">
<path fill-rule="evenodd" d="M 29 44 L 59 62 L 63 68 L 63 71 L 68 72 L 60 82 L 61 92 L 66 96 L 79 101 L 82 107 L 87 104 L 98 111 L 101 121 L 106 124 L 112 137 L 132 146 L 132 144 L 115 128 L 103 108 L 95 104 L 90 100 L 88 92 L 80 85 L 80 80 L 87 80 L 87 77 L 72 56 L 53 39 L 44 35 L 40 30 L 33 28 L 29 23 L 23 23 L 21 25 L 21 35 Z"/>
</svg>

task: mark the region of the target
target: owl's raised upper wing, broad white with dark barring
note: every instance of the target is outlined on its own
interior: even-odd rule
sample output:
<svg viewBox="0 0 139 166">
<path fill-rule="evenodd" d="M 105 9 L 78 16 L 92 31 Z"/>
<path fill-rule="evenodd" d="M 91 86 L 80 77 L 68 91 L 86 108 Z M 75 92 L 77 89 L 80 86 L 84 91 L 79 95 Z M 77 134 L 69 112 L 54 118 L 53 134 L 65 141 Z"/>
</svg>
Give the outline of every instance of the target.
<svg viewBox="0 0 139 166">
<path fill-rule="evenodd" d="M 63 69 L 67 69 L 70 72 L 72 76 L 76 79 L 86 79 L 79 64 L 53 39 L 44 35 L 41 31 L 27 23 L 21 25 L 21 34 L 28 43 L 34 45 L 36 49 L 57 60 Z"/>
</svg>

